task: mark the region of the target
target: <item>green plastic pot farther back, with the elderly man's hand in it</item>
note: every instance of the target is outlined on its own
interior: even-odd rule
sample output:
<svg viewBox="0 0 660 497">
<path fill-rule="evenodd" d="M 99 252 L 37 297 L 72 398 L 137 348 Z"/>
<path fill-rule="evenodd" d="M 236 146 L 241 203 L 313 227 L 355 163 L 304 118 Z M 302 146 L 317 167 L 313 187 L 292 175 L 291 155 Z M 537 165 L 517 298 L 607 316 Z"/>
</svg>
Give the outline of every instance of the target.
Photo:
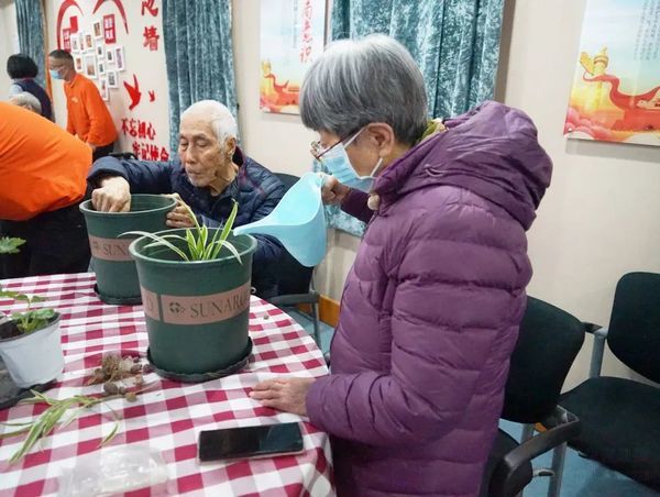
<svg viewBox="0 0 660 497">
<path fill-rule="evenodd" d="M 140 284 L 129 245 L 138 236 L 127 231 L 162 231 L 176 200 L 162 195 L 133 195 L 130 212 L 99 212 L 91 200 L 80 203 L 85 216 L 97 292 L 107 303 L 140 303 Z"/>
</svg>

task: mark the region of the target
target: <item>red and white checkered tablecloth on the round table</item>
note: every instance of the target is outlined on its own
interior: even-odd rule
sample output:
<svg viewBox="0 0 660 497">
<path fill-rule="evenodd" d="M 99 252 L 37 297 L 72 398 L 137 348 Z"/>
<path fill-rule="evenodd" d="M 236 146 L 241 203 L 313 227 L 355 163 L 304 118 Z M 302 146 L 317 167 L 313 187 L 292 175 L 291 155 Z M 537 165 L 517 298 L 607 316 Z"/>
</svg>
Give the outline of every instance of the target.
<svg viewBox="0 0 660 497">
<path fill-rule="evenodd" d="M 145 354 L 147 335 L 142 307 L 108 306 L 94 292 L 92 274 L 38 276 L 2 281 L 7 289 L 40 294 L 62 313 L 62 341 L 66 366 L 61 382 L 47 391 L 54 398 L 97 394 L 100 386 L 85 386 L 85 377 L 99 364 L 101 354 L 138 351 Z M 7 301 L 0 310 L 9 311 Z M 58 492 L 58 477 L 76 465 L 77 457 L 102 453 L 121 444 L 141 444 L 160 452 L 167 467 L 167 495 L 334 495 L 330 443 L 324 432 L 301 423 L 306 451 L 299 455 L 240 460 L 224 463 L 197 461 L 201 430 L 300 421 L 278 413 L 248 397 L 257 382 L 274 376 L 321 376 L 327 373 L 314 340 L 286 313 L 252 298 L 250 335 L 254 342 L 250 364 L 240 373 L 202 384 L 182 384 L 155 373 L 145 383 L 160 385 L 141 394 L 136 402 L 113 399 L 109 406 L 122 418 L 114 439 L 100 441 L 114 421 L 101 405 L 65 428 L 56 428 L 21 462 L 8 460 L 23 437 L 0 440 L 0 495 L 42 496 Z M 44 410 L 44 405 L 18 405 L 0 411 L 0 422 L 24 422 Z M 15 428 L 11 428 L 14 430 Z M 1 427 L 0 432 L 10 430 Z M 158 490 L 161 492 L 161 490 Z M 155 495 L 150 489 L 131 493 Z"/>
</svg>

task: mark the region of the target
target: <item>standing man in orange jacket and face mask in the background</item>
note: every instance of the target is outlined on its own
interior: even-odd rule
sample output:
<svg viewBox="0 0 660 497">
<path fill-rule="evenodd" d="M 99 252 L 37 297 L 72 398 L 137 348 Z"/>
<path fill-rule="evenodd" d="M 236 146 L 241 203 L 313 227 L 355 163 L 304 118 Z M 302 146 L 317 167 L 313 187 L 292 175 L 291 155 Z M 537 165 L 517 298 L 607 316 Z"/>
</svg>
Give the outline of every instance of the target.
<svg viewBox="0 0 660 497">
<path fill-rule="evenodd" d="M 95 161 L 109 155 L 114 147 L 117 129 L 96 85 L 76 73 L 74 58 L 66 51 L 51 52 L 48 67 L 53 79 L 64 80 L 66 131 L 89 145 Z"/>
</svg>

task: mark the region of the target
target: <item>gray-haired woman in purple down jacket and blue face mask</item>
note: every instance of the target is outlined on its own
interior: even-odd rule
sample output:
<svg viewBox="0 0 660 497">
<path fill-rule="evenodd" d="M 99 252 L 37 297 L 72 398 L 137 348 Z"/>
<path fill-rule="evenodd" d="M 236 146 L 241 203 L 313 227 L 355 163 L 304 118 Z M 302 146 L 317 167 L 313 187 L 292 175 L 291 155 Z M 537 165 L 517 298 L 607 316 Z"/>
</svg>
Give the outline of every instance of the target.
<svg viewBox="0 0 660 497">
<path fill-rule="evenodd" d="M 330 434 L 340 496 L 477 495 L 551 161 L 530 119 L 496 102 L 428 122 L 422 76 L 386 36 L 332 44 L 300 100 L 332 173 L 324 200 L 369 227 L 331 374 L 251 395 Z"/>
</svg>

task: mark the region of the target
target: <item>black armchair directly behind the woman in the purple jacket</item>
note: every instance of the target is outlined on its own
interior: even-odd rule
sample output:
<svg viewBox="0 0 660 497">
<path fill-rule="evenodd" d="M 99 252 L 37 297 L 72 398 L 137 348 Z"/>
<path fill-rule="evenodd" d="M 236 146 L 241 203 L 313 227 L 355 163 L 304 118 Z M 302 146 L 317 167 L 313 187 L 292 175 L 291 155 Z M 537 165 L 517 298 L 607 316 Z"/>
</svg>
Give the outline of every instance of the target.
<svg viewBox="0 0 660 497">
<path fill-rule="evenodd" d="M 519 443 L 498 430 L 482 481 L 481 497 L 520 494 L 532 477 L 550 476 L 549 495 L 558 496 L 563 466 L 560 455 L 565 442 L 580 430 L 580 420 L 560 408 L 564 379 L 584 342 L 584 327 L 563 310 L 528 297 L 518 342 L 512 355 L 502 418 L 525 423 Z M 552 429 L 534 435 L 534 424 L 552 420 Z M 553 468 L 535 472 L 531 460 L 556 451 Z"/>
</svg>

